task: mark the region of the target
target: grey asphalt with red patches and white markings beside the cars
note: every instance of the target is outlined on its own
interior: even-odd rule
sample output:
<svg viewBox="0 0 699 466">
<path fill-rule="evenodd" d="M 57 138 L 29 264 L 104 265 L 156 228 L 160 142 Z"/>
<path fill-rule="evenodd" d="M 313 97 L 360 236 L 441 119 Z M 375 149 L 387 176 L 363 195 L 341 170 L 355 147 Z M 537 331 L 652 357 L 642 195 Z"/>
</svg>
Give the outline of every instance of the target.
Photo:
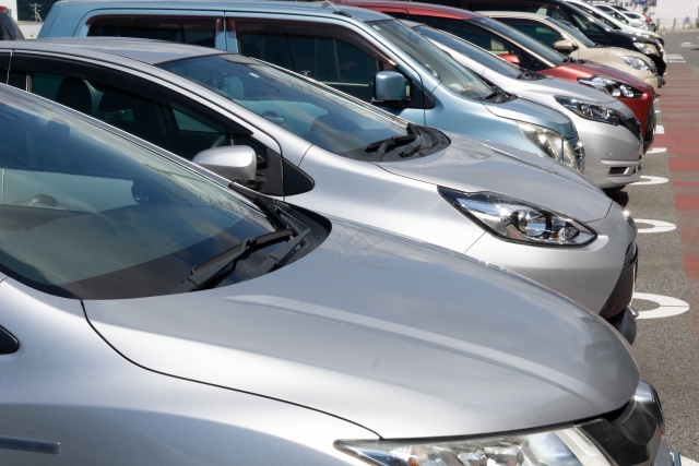
<svg viewBox="0 0 699 466">
<path fill-rule="evenodd" d="M 699 459 L 699 32 L 664 35 L 667 85 L 643 177 L 615 198 L 639 227 L 633 350 L 661 396 L 671 450 Z M 643 299 L 641 299 L 643 298 Z"/>
</svg>

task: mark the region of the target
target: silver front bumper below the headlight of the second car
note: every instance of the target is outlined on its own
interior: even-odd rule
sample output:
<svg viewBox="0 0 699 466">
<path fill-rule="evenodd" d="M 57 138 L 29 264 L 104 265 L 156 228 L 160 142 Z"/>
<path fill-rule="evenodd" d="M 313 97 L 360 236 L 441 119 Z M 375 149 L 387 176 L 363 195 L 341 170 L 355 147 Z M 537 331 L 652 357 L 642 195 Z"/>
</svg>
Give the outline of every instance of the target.
<svg viewBox="0 0 699 466">
<path fill-rule="evenodd" d="M 486 232 L 465 253 L 524 275 L 599 314 L 619 280 L 636 229 L 617 203 L 606 217 L 585 224 L 597 231 L 597 239 L 582 248 L 528 246 Z"/>
</svg>

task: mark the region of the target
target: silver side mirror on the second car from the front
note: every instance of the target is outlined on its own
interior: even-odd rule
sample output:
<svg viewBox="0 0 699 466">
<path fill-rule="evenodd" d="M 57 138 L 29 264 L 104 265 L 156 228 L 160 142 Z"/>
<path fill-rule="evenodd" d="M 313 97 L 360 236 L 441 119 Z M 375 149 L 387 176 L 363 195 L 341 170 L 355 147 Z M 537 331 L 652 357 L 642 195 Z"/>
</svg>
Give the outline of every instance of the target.
<svg viewBox="0 0 699 466">
<path fill-rule="evenodd" d="M 208 148 L 197 154 L 192 162 L 229 180 L 252 181 L 258 169 L 258 157 L 247 145 Z"/>
</svg>

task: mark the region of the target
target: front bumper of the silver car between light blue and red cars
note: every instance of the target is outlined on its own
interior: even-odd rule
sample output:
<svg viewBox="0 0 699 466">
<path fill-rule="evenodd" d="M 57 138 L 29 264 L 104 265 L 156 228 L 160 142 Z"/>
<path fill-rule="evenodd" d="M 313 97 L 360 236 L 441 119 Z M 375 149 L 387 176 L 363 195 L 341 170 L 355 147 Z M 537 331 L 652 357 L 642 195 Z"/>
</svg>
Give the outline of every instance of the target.
<svg viewBox="0 0 699 466">
<path fill-rule="evenodd" d="M 638 181 L 642 171 L 642 143 L 623 126 L 577 119 L 585 147 L 584 175 L 600 188 L 624 187 Z"/>
</svg>

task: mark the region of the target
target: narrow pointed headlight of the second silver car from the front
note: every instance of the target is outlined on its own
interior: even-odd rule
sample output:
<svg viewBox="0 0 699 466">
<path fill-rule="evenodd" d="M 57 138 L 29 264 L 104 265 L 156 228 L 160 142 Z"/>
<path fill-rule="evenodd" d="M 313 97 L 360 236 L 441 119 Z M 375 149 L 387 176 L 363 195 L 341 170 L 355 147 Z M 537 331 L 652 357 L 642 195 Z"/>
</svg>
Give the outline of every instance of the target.
<svg viewBox="0 0 699 466">
<path fill-rule="evenodd" d="M 439 194 L 484 229 L 509 241 L 579 247 L 597 237 L 582 222 L 493 192 L 466 193 L 440 187 Z"/>
</svg>

